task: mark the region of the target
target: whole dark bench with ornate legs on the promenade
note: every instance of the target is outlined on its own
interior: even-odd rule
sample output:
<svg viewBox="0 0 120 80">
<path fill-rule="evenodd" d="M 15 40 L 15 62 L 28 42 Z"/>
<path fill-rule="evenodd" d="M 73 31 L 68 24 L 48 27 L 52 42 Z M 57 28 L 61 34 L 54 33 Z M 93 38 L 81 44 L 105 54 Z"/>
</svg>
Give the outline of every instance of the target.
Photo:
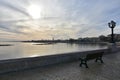
<svg viewBox="0 0 120 80">
<path fill-rule="evenodd" d="M 103 53 L 104 52 L 96 52 L 92 54 L 87 54 L 84 58 L 80 58 L 81 60 L 80 67 L 82 67 L 82 65 L 85 65 L 86 68 L 88 68 L 87 61 L 93 60 L 93 59 L 95 59 L 95 62 L 99 60 L 101 63 L 103 63 L 103 60 L 102 60 Z"/>
</svg>

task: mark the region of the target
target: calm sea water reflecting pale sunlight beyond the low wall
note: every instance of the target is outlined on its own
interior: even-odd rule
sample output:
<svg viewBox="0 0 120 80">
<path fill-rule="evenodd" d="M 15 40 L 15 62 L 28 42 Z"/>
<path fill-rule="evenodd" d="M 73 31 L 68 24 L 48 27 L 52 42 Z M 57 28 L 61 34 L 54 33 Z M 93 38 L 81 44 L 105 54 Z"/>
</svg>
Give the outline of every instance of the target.
<svg viewBox="0 0 120 80">
<path fill-rule="evenodd" d="M 13 46 L 0 46 L 0 60 L 64 54 L 68 52 L 107 48 L 106 45 L 98 44 L 56 43 L 48 45 L 35 45 L 37 43 L 0 42 L 0 44 L 6 43 L 13 44 Z"/>
</svg>

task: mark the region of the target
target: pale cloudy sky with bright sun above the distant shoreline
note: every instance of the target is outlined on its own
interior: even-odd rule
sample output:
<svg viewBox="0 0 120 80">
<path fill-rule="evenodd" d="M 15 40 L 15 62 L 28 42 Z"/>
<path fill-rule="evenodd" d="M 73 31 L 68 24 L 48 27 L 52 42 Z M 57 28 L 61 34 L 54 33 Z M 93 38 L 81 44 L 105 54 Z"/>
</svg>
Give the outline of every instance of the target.
<svg viewBox="0 0 120 80">
<path fill-rule="evenodd" d="M 120 34 L 120 0 L 0 0 L 0 40 Z"/>
</svg>

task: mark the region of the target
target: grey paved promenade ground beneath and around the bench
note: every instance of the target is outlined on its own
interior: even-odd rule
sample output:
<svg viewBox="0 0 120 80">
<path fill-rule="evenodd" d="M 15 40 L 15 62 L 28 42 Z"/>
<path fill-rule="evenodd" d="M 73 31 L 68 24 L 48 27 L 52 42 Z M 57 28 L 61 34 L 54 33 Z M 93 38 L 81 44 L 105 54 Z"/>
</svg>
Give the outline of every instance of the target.
<svg viewBox="0 0 120 80">
<path fill-rule="evenodd" d="M 103 56 L 104 64 L 79 61 L 0 75 L 0 80 L 120 80 L 120 52 Z"/>
</svg>

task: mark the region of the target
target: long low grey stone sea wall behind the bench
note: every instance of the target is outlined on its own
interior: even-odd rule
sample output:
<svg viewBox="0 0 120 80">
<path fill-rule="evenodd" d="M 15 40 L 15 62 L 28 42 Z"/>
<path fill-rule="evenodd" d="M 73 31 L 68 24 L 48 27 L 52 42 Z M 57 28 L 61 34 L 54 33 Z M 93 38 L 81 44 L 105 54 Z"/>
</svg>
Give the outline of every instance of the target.
<svg viewBox="0 0 120 80">
<path fill-rule="evenodd" d="M 83 55 L 86 55 L 88 53 L 95 53 L 99 51 L 104 51 L 105 54 L 109 53 L 109 49 L 100 49 L 100 50 L 93 50 L 93 51 L 71 52 L 71 53 L 40 56 L 40 57 L 1 60 L 0 74 L 12 72 L 12 71 L 31 69 L 36 67 L 43 67 L 43 66 L 57 64 L 57 63 L 77 61 Z"/>
</svg>

